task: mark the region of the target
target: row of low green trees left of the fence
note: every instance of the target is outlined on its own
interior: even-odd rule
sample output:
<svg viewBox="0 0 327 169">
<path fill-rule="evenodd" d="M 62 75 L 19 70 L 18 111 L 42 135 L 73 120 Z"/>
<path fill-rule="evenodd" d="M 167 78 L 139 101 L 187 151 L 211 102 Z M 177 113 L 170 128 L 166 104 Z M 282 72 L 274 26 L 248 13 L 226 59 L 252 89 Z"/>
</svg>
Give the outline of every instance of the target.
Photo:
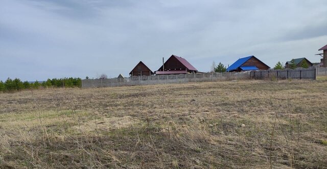
<svg viewBox="0 0 327 169">
<path fill-rule="evenodd" d="M 80 88 L 82 84 L 81 78 L 65 77 L 53 78 L 43 82 L 21 81 L 19 78 L 11 79 L 8 77 L 6 81 L 0 80 L 0 92 L 21 91 L 24 89 L 39 89 L 39 88 Z"/>
</svg>

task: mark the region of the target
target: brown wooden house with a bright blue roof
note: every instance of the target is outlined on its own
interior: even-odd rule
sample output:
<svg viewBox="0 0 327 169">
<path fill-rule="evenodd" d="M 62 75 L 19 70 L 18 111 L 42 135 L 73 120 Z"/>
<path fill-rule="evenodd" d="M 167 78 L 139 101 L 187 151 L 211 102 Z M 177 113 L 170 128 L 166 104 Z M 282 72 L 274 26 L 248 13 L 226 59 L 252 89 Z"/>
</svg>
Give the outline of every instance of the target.
<svg viewBox="0 0 327 169">
<path fill-rule="evenodd" d="M 241 72 L 251 70 L 268 70 L 270 67 L 254 56 L 238 59 L 227 68 L 227 72 Z"/>
</svg>

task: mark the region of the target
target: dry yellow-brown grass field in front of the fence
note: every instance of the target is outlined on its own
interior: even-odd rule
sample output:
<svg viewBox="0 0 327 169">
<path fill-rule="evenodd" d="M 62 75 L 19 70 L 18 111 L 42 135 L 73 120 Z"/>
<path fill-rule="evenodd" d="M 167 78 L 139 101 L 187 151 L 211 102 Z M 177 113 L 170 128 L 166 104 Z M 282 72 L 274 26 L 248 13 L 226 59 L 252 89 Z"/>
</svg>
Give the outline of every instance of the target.
<svg viewBox="0 0 327 169">
<path fill-rule="evenodd" d="M 327 168 L 327 81 L 0 94 L 0 168 Z"/>
</svg>

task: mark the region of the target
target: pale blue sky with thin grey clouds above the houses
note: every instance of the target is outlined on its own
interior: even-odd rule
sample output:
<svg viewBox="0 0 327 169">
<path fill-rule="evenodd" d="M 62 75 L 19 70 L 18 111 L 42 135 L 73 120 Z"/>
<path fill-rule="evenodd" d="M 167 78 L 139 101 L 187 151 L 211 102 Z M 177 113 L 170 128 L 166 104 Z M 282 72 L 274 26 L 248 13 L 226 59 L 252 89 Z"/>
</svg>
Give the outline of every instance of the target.
<svg viewBox="0 0 327 169">
<path fill-rule="evenodd" d="M 327 44 L 327 1 L 0 0 L 0 80 L 116 77 L 172 54 L 201 72 L 254 55 L 268 66 Z"/>
</svg>

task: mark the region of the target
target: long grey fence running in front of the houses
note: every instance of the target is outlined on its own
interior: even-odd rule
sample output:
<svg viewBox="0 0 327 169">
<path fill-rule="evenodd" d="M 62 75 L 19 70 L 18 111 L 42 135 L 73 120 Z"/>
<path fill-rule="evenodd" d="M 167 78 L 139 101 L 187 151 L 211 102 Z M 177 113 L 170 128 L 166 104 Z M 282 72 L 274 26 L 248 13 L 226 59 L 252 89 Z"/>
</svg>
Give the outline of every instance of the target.
<svg viewBox="0 0 327 169">
<path fill-rule="evenodd" d="M 319 69 L 319 70 L 318 70 Z M 323 70 L 322 70 L 323 69 Z M 179 75 L 153 75 L 153 76 L 133 76 L 127 78 L 110 79 L 83 79 L 82 88 L 97 87 L 119 87 L 119 86 L 141 86 L 155 84 L 188 83 L 203 81 L 225 81 L 242 79 L 260 78 L 296 78 L 296 79 L 315 79 L 316 74 L 326 72 L 325 68 L 297 68 L 295 70 L 286 69 L 281 71 L 251 71 L 251 72 L 224 72 L 224 73 L 196 73 Z"/>
</svg>

